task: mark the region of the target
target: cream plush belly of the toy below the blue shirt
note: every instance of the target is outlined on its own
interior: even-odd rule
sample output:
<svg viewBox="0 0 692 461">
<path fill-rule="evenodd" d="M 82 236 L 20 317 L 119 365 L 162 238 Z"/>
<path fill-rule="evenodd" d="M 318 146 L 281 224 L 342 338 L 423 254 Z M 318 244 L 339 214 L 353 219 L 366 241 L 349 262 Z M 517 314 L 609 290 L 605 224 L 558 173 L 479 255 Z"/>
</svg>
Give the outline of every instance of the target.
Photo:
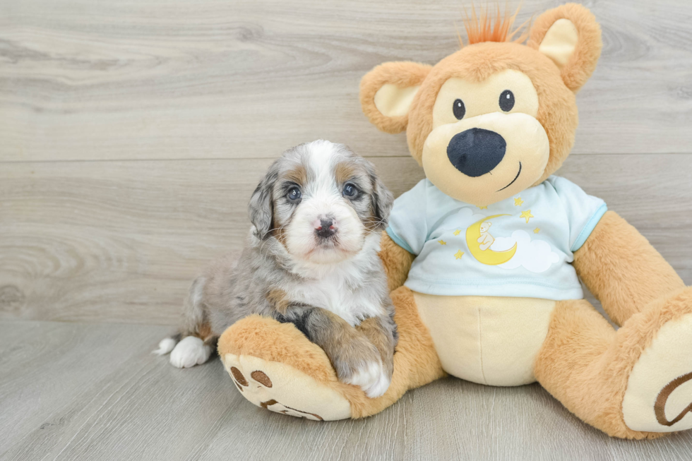
<svg viewBox="0 0 692 461">
<path fill-rule="evenodd" d="M 447 373 L 489 385 L 536 381 L 533 364 L 555 301 L 416 292 L 414 299 Z"/>
</svg>

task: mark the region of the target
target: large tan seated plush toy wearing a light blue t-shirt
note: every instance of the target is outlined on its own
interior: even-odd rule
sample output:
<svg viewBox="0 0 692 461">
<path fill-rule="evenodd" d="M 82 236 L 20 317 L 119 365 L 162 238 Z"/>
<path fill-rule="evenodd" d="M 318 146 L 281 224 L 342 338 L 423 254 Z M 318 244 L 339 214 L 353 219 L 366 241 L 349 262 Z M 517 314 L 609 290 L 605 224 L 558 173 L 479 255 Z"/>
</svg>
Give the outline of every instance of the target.
<svg viewBox="0 0 692 461">
<path fill-rule="evenodd" d="M 692 289 L 603 200 L 553 175 L 573 146 L 599 25 L 577 4 L 542 13 L 528 37 L 513 37 L 512 20 L 472 18 L 468 43 L 438 64 L 389 62 L 362 79 L 364 113 L 406 131 L 426 176 L 395 201 L 381 244 L 400 333 L 388 391 L 369 399 L 340 383 L 292 324 L 254 316 L 219 341 L 248 400 L 359 418 L 450 374 L 537 381 L 610 436 L 692 427 Z"/>
</svg>

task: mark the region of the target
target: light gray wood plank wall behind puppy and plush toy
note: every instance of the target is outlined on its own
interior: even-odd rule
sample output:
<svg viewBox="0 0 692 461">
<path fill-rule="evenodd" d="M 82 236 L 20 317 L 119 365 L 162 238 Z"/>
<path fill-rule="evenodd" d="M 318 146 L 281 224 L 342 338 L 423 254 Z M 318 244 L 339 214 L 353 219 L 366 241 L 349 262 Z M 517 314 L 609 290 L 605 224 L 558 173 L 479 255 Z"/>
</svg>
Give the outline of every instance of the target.
<svg viewBox="0 0 692 461">
<path fill-rule="evenodd" d="M 0 318 L 174 323 L 196 270 L 240 248 L 263 170 L 306 140 L 410 188 L 405 135 L 368 123 L 359 79 L 455 51 L 464 3 L 1 1 Z M 586 3 L 604 49 L 561 174 L 692 284 L 692 4 Z"/>
</svg>

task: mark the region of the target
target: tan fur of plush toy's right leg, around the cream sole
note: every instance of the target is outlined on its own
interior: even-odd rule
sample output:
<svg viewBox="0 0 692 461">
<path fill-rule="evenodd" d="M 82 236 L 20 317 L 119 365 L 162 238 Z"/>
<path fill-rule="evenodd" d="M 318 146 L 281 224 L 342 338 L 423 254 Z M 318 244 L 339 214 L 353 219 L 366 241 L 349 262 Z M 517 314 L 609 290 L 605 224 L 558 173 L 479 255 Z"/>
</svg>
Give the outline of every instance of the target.
<svg viewBox="0 0 692 461">
<path fill-rule="evenodd" d="M 655 301 L 617 332 L 588 301 L 559 301 L 536 360 L 536 378 L 571 412 L 609 436 L 659 437 L 660 432 L 626 426 L 622 405 L 628 379 L 662 326 L 691 315 L 689 288 Z M 677 377 L 676 370 L 669 372 L 663 381 Z"/>
</svg>

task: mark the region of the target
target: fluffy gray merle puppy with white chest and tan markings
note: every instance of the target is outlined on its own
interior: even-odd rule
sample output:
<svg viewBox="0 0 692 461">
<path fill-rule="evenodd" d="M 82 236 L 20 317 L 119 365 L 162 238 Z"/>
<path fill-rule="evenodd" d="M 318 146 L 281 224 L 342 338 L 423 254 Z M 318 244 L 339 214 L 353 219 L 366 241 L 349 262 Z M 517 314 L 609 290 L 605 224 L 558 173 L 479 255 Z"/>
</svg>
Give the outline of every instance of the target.
<svg viewBox="0 0 692 461">
<path fill-rule="evenodd" d="M 322 347 L 340 381 L 382 395 L 398 340 L 378 257 L 392 203 L 373 165 L 345 145 L 287 150 L 252 194 L 239 261 L 217 261 L 193 282 L 179 333 L 154 352 L 171 352 L 179 368 L 203 364 L 229 325 L 258 313 Z"/>
</svg>

